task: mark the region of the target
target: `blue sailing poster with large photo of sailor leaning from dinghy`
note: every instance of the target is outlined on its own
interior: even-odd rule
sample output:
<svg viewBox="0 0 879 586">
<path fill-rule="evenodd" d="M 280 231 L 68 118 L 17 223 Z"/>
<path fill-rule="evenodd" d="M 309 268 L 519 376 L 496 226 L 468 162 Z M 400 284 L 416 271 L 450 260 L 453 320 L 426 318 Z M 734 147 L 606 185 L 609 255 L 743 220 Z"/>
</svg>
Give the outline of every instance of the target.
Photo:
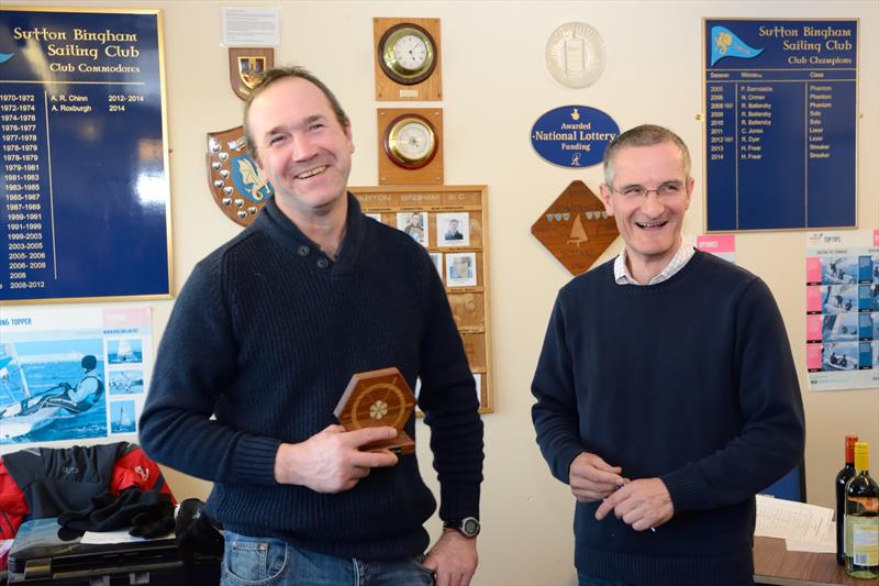
<svg viewBox="0 0 879 586">
<path fill-rule="evenodd" d="M 0 318 L 0 452 L 136 433 L 153 367 L 147 307 Z"/>
</svg>

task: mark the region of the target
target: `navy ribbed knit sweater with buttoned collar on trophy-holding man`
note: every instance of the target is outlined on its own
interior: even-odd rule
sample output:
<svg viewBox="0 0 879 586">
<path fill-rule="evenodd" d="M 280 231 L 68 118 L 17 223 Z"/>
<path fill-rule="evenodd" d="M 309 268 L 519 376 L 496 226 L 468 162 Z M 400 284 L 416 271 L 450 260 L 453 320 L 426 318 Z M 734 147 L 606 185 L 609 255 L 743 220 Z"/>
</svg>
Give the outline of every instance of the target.
<svg viewBox="0 0 879 586">
<path fill-rule="evenodd" d="M 431 425 L 444 519 L 479 515 L 482 422 L 475 382 L 431 259 L 365 217 L 348 195 L 333 263 L 269 200 L 200 262 L 156 358 L 141 441 L 156 461 L 214 482 L 209 513 L 226 529 L 286 538 L 345 557 L 416 555 L 436 501 L 414 455 L 352 490 L 279 485 L 275 454 L 337 423 L 351 376 L 397 366 Z M 215 419 L 211 416 L 215 414 Z M 405 425 L 415 436 L 414 418 Z"/>
</svg>

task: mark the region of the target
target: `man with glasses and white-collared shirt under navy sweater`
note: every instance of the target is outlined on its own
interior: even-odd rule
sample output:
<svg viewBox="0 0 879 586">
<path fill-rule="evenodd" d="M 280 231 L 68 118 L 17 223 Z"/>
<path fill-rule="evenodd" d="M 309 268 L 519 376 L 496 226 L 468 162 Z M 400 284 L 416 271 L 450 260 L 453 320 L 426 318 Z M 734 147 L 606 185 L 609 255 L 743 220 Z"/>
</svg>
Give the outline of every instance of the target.
<svg viewBox="0 0 879 586">
<path fill-rule="evenodd" d="M 621 134 L 604 180 L 625 247 L 561 288 L 532 384 L 537 443 L 577 497 L 580 584 L 753 584 L 754 495 L 803 456 L 785 324 L 759 278 L 683 242 L 680 137 Z"/>
</svg>

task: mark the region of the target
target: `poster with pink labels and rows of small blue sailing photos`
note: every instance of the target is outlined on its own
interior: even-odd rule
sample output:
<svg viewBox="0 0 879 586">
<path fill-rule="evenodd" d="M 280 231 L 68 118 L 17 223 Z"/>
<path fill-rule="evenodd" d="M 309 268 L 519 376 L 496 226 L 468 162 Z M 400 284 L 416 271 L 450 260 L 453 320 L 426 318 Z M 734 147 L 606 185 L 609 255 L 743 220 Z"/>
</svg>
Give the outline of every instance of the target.
<svg viewBox="0 0 879 586">
<path fill-rule="evenodd" d="M 879 389 L 879 245 L 861 230 L 810 234 L 808 246 L 809 388 Z"/>
</svg>

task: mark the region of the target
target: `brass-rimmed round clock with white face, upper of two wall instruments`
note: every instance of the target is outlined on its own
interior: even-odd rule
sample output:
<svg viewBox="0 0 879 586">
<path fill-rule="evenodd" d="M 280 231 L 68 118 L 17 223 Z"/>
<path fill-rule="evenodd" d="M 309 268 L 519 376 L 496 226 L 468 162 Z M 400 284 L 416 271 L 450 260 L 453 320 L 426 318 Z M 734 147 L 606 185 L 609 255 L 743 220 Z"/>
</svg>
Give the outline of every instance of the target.
<svg viewBox="0 0 879 586">
<path fill-rule="evenodd" d="M 378 46 L 378 58 L 385 75 L 405 86 L 424 81 L 436 66 L 436 43 L 431 34 L 412 23 L 388 29 Z"/>
</svg>

